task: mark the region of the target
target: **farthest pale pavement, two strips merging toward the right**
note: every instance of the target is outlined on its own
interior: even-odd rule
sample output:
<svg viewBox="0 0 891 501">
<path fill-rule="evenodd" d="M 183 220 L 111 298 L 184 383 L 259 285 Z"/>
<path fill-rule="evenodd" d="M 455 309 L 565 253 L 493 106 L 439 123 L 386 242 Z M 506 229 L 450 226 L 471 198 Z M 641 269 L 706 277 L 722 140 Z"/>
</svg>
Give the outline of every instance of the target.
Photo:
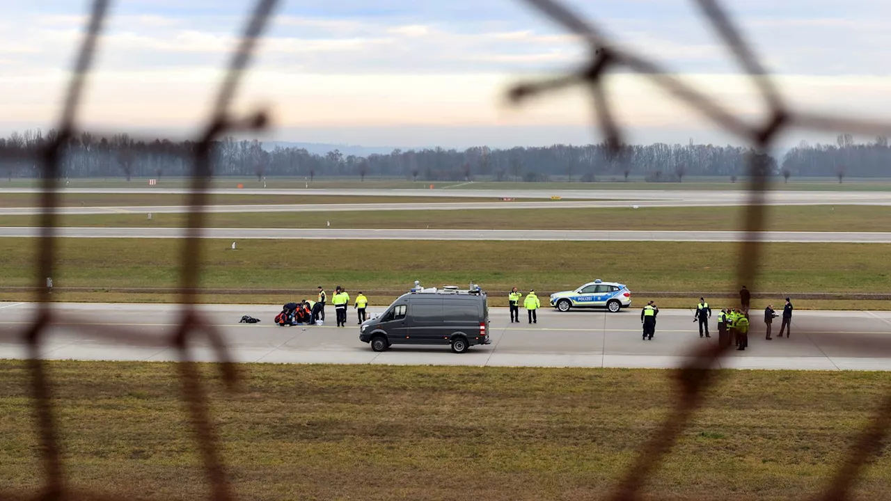
<svg viewBox="0 0 891 501">
<path fill-rule="evenodd" d="M 29 188 L 0 189 L 0 193 L 39 193 Z M 60 193 L 188 193 L 183 189 L 147 188 L 107 188 L 107 189 L 64 189 Z M 343 203 L 343 204 L 275 204 L 275 205 L 214 205 L 204 208 L 205 212 L 318 212 L 344 210 L 465 210 L 465 209 L 583 209 L 617 207 L 720 207 L 738 206 L 748 203 L 748 193 L 719 191 L 672 191 L 672 190 L 231 190 L 214 189 L 208 193 L 217 194 L 292 194 L 295 202 L 301 195 L 328 196 L 389 196 L 393 203 Z M 551 201 L 552 196 L 566 201 Z M 467 197 L 489 199 L 499 198 L 540 198 L 545 201 L 504 201 L 504 202 L 396 202 L 400 197 Z M 768 205 L 891 205 L 891 193 L 862 192 L 767 192 L 764 203 Z M 59 208 L 60 214 L 144 214 L 147 212 L 165 214 L 187 212 L 183 205 L 170 206 L 121 206 L 121 207 L 66 207 Z M 0 216 L 24 216 L 39 214 L 36 208 L 0 208 Z"/>
</svg>

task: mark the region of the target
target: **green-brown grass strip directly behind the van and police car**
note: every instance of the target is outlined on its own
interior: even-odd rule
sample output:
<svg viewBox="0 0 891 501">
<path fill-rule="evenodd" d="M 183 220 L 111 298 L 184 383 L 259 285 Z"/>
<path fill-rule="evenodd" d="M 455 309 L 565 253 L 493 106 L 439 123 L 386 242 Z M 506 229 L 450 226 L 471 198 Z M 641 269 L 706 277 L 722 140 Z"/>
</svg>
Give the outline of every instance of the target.
<svg viewBox="0 0 891 501">
<path fill-rule="evenodd" d="M 176 287 L 182 242 L 171 239 L 58 239 L 58 286 Z M 206 240 L 201 286 L 307 291 L 319 283 L 350 291 L 405 291 L 473 280 L 487 291 L 511 286 L 539 295 L 602 278 L 632 291 L 736 292 L 734 243 L 433 242 Z M 37 239 L 0 239 L 0 283 L 34 283 Z M 596 259 L 593 259 L 596 257 Z M 891 245 L 765 243 L 755 292 L 888 292 Z M 27 299 L 27 298 L 25 298 Z M 643 300 L 640 296 L 637 300 Z M 377 298 L 372 298 L 372 304 Z"/>
</svg>

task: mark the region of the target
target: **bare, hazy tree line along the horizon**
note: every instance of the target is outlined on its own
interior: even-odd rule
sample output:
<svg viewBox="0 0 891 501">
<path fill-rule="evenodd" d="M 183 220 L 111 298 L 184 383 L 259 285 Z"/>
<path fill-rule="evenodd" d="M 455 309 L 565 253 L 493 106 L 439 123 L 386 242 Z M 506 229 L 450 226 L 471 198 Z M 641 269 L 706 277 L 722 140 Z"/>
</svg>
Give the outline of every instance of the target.
<svg viewBox="0 0 891 501">
<path fill-rule="evenodd" d="M 0 172 L 5 177 L 37 177 L 39 151 L 55 133 L 26 130 L 0 138 Z M 65 147 L 63 177 L 183 177 L 190 174 L 190 141 L 155 139 L 145 142 L 127 134 L 110 137 L 83 133 Z M 212 148 L 213 175 L 218 177 L 405 177 L 423 181 L 461 181 L 475 178 L 497 181 L 546 181 L 560 178 L 593 182 L 604 177 L 627 180 L 644 177 L 651 182 L 683 182 L 684 177 L 746 175 L 756 152 L 740 146 L 712 144 L 629 144 L 610 156 L 606 144 L 490 149 L 475 146 L 463 151 L 444 148 L 394 150 L 367 157 L 344 156 L 338 150 L 325 155 L 304 148 L 276 145 L 267 150 L 259 141 L 218 141 Z M 891 149 L 886 137 L 856 144 L 851 135 L 838 136 L 837 144 L 802 141 L 781 162 L 759 155 L 759 168 L 771 176 L 887 177 Z"/>
</svg>

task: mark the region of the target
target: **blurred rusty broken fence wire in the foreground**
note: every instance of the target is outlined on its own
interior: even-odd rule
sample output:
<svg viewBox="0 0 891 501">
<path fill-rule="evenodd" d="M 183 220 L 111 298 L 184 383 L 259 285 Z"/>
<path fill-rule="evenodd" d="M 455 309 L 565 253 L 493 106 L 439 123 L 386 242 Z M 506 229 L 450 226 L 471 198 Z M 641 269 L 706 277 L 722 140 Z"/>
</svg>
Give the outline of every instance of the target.
<svg viewBox="0 0 891 501">
<path fill-rule="evenodd" d="M 756 152 L 765 153 L 775 139 L 789 127 L 802 127 L 823 131 L 846 130 L 859 134 L 887 134 L 891 124 L 870 122 L 867 120 L 849 119 L 791 110 L 783 101 L 779 90 L 772 84 L 758 58 L 749 48 L 745 37 L 737 29 L 732 20 L 724 13 L 716 0 L 694 0 L 701 9 L 705 19 L 715 29 L 727 45 L 729 52 L 740 63 L 756 85 L 769 111 L 764 123 L 749 124 L 717 103 L 707 94 L 700 93 L 684 84 L 682 79 L 671 75 L 657 62 L 648 61 L 641 55 L 630 53 L 612 43 L 597 28 L 593 21 L 585 21 L 582 16 L 573 12 L 566 4 L 555 0 L 523 0 L 540 11 L 544 16 L 556 21 L 572 33 L 581 37 L 590 47 L 590 59 L 584 66 L 568 75 L 548 78 L 541 81 L 521 83 L 510 91 L 512 100 L 522 103 L 538 94 L 552 92 L 571 85 L 583 85 L 588 88 L 593 98 L 594 118 L 606 136 L 609 151 L 614 158 L 622 161 L 625 152 L 623 130 L 612 111 L 613 103 L 603 86 L 608 70 L 624 67 L 634 70 L 645 78 L 652 80 L 657 86 L 673 94 L 675 98 L 699 111 L 707 119 L 726 131 L 747 141 Z M 65 324 L 66 328 L 90 333 L 122 344 L 152 344 L 157 338 L 146 336 L 135 330 L 120 326 L 102 326 L 86 323 L 77 318 L 63 316 L 53 309 L 53 301 L 47 287 L 45 277 L 53 276 L 53 263 L 56 252 L 56 214 L 60 204 L 56 190 L 60 175 L 60 160 L 64 144 L 78 130 L 78 111 L 80 99 L 86 86 L 94 54 L 99 50 L 102 27 L 109 11 L 109 0 L 94 0 L 86 33 L 80 45 L 69 87 L 59 119 L 58 136 L 48 144 L 42 157 L 42 234 L 39 239 L 39 270 L 35 277 L 39 308 L 33 320 L 22 333 L 13 333 L 19 339 L 25 339 L 29 346 L 29 379 L 30 397 L 33 400 L 40 438 L 40 451 L 44 467 L 45 489 L 39 499 L 68 499 L 72 491 L 66 485 L 64 464 L 61 458 L 60 432 L 53 414 L 51 384 L 45 372 L 45 364 L 40 358 L 40 347 L 46 333 L 53 325 Z M 189 197 L 187 238 L 184 240 L 182 276 L 180 289 L 182 311 L 176 333 L 166 342 L 175 347 L 182 363 L 178 364 L 183 390 L 183 398 L 189 409 L 193 432 L 208 483 L 211 486 L 209 497 L 217 500 L 233 499 L 225 474 L 225 464 L 220 457 L 213 424 L 208 415 L 208 402 L 203 389 L 197 367 L 192 363 L 190 341 L 196 336 L 203 336 L 210 341 L 217 351 L 219 365 L 225 382 L 233 385 L 236 371 L 230 360 L 227 349 L 217 329 L 206 321 L 195 308 L 198 298 L 200 278 L 201 248 L 200 235 L 205 223 L 203 207 L 207 203 L 208 179 L 210 174 L 209 152 L 213 141 L 218 137 L 237 130 L 259 130 L 266 127 L 266 112 L 257 111 L 248 117 L 233 117 L 229 111 L 233 97 L 238 90 L 241 76 L 249 67 L 258 37 L 266 28 L 277 0 L 258 0 L 250 13 L 239 45 L 233 52 L 225 78 L 217 91 L 217 100 L 210 111 L 207 122 L 197 138 L 192 152 L 192 191 Z M 748 207 L 744 229 L 758 232 L 764 227 L 764 189 L 767 183 L 767 172 L 761 155 L 753 155 L 749 171 Z M 761 243 L 757 239 L 741 243 L 737 275 L 739 283 L 756 283 L 759 252 Z M 754 288 L 754 287 L 753 287 Z M 6 336 L 4 336 L 6 337 Z M 609 494 L 610 499 L 631 500 L 642 496 L 645 480 L 650 476 L 674 442 L 684 431 L 691 417 L 702 403 L 703 393 L 714 382 L 714 371 L 717 360 L 724 355 L 726 347 L 709 346 L 691 353 L 692 362 L 676 374 L 681 397 L 674 403 L 674 408 L 664 423 L 658 426 L 650 441 L 637 456 L 634 464 L 628 468 L 624 478 Z M 843 464 L 828 480 L 826 489 L 818 496 L 820 499 L 845 499 L 857 479 L 862 467 L 867 464 L 882 447 L 888 427 L 891 426 L 891 395 L 881 403 L 871 423 L 854 439 Z M 15 493 L 0 492 L 3 498 L 20 498 Z M 102 499 L 102 495 L 90 495 L 89 498 Z"/>
</svg>

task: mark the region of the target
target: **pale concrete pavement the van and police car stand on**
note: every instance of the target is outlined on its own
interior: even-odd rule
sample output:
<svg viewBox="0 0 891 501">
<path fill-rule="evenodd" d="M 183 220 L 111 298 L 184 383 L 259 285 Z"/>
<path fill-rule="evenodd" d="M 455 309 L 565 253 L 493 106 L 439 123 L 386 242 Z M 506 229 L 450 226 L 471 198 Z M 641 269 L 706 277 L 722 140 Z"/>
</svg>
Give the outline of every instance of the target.
<svg viewBox="0 0 891 501">
<path fill-rule="evenodd" d="M 373 300 L 373 298 L 372 298 Z M 78 360 L 176 360 L 168 348 L 176 331 L 176 305 L 78 304 L 58 305 L 61 324 L 45 332 L 41 357 Z M 662 310 L 656 336 L 642 341 L 639 309 L 610 314 L 601 311 L 560 313 L 540 311 L 538 324 L 510 324 L 504 308 L 491 308 L 492 344 L 458 355 L 447 346 L 394 346 L 376 353 L 358 340 L 355 310 L 350 326 L 279 327 L 272 324 L 278 306 L 207 305 L 201 309 L 217 325 L 234 360 L 268 363 L 652 367 L 683 365 L 691 349 L 711 339 L 699 338 L 690 310 Z M 383 308 L 371 308 L 380 312 Z M 333 316 L 333 308 L 328 308 Z M 26 357 L 22 335 L 34 318 L 35 305 L 0 303 L 0 357 Z M 260 324 L 238 324 L 242 315 Z M 525 315 L 525 313 L 524 313 Z M 891 312 L 797 311 L 791 338 L 764 340 L 763 323 L 753 312 L 749 348 L 732 350 L 717 367 L 739 369 L 891 370 Z M 82 330 L 71 325 L 79 319 Z M 331 318 L 329 318 L 331 319 Z M 114 333 L 101 335 L 98 325 Z M 711 323 L 715 330 L 715 321 Z M 126 330 L 140 342 L 121 339 Z M 714 334 L 714 333 L 713 333 Z M 215 360 L 206 339 L 195 341 L 193 357 Z"/>
</svg>

